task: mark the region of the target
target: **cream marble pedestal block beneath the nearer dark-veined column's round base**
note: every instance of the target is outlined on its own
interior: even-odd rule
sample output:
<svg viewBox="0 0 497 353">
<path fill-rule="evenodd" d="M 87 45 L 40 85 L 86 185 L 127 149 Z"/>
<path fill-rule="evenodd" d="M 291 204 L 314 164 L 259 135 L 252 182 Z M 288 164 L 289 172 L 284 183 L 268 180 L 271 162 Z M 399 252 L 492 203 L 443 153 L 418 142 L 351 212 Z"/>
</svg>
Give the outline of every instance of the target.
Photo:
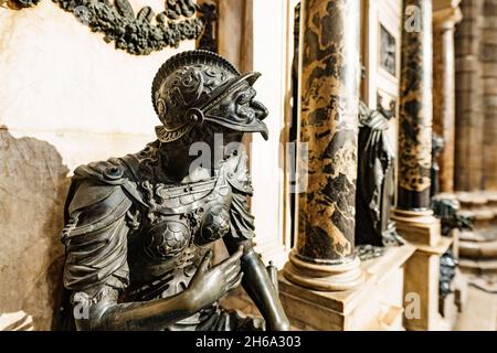
<svg viewBox="0 0 497 353">
<path fill-rule="evenodd" d="M 306 331 L 403 331 L 403 266 L 414 250 L 405 244 L 361 261 L 364 282 L 348 291 L 309 290 L 281 271 L 279 297 L 292 325 Z"/>
</svg>

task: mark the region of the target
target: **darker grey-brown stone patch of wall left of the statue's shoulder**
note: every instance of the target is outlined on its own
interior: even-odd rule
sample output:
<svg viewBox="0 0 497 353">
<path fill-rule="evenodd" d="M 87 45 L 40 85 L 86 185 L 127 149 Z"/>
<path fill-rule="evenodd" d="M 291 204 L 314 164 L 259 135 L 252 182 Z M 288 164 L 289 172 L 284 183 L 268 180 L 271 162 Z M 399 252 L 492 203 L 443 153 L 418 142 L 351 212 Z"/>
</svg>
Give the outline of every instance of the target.
<svg viewBox="0 0 497 353">
<path fill-rule="evenodd" d="M 67 167 L 49 142 L 0 128 L 0 312 L 49 329 L 61 290 Z"/>
</svg>

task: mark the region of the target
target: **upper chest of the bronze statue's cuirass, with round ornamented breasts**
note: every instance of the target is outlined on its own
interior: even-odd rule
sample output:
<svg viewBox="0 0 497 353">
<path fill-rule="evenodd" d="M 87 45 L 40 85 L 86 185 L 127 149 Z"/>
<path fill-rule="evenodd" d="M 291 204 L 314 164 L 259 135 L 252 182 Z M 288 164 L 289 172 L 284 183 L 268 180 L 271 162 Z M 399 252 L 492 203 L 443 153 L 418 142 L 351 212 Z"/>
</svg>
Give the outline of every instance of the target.
<svg viewBox="0 0 497 353">
<path fill-rule="evenodd" d="M 165 261 L 230 231 L 231 186 L 224 178 L 170 186 L 141 183 L 148 208 L 140 232 L 145 255 Z"/>
</svg>

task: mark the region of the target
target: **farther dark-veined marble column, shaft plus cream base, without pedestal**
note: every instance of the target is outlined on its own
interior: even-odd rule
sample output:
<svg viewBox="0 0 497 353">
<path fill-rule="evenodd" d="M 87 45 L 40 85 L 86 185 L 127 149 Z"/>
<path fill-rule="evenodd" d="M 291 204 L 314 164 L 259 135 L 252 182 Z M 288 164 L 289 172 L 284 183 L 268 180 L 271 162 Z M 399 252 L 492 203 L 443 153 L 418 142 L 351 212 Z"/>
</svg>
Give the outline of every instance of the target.
<svg viewBox="0 0 497 353">
<path fill-rule="evenodd" d="M 404 0 L 399 89 L 399 173 L 392 218 L 399 233 L 419 244 L 440 242 L 440 221 L 430 210 L 433 118 L 433 6 Z"/>
</svg>

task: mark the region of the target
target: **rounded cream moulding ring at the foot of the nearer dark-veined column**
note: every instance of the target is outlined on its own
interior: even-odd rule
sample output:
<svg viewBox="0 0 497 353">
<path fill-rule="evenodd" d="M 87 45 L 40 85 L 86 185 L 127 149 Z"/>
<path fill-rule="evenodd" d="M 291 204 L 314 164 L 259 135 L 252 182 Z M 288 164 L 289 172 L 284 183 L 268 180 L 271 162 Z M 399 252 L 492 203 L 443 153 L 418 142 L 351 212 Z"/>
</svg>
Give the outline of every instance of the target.
<svg viewBox="0 0 497 353">
<path fill-rule="evenodd" d="M 310 264 L 299 259 L 293 250 L 283 274 L 289 281 L 314 290 L 342 291 L 359 287 L 364 276 L 360 259 L 353 257 L 348 263 L 338 265 Z"/>
</svg>

